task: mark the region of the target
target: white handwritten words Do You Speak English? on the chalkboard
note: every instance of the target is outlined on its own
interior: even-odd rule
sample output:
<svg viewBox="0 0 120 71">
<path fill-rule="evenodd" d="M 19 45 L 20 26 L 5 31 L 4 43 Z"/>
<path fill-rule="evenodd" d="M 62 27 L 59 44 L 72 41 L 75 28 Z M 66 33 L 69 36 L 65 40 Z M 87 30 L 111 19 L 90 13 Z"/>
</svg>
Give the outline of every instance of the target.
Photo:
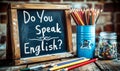
<svg viewBox="0 0 120 71">
<path fill-rule="evenodd" d="M 42 10 L 41 14 L 38 11 L 36 11 L 35 14 L 37 16 L 30 14 L 28 11 L 25 11 L 25 10 L 23 11 L 24 24 L 28 24 L 29 22 L 33 22 L 34 24 L 35 21 L 38 21 L 36 20 L 36 18 L 39 18 L 39 23 L 37 23 L 36 26 L 33 27 L 36 30 L 36 33 L 35 33 L 36 37 L 29 38 L 29 41 L 35 41 L 37 43 L 39 42 L 39 44 L 31 45 L 29 41 L 25 42 L 24 53 L 35 54 L 36 56 L 38 56 L 40 55 L 40 52 L 61 50 L 63 40 L 61 39 L 60 36 L 59 37 L 57 35 L 53 36 L 53 34 L 58 34 L 58 35 L 62 34 L 60 24 L 58 22 L 54 22 L 54 19 L 52 16 L 45 16 L 44 10 Z M 51 27 L 50 26 L 41 27 L 42 24 L 46 24 L 45 22 L 50 22 L 51 25 L 53 25 L 53 22 L 54 22 L 55 25 Z M 47 35 L 48 33 L 51 33 L 51 35 Z"/>
</svg>

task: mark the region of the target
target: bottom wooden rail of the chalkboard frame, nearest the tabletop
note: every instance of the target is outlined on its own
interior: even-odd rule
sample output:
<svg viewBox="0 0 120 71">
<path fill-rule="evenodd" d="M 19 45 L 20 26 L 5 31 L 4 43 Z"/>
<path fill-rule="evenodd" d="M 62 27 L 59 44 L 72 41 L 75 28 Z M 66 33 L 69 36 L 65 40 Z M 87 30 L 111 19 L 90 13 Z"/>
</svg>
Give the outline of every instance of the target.
<svg viewBox="0 0 120 71">
<path fill-rule="evenodd" d="M 21 58 L 20 60 L 16 60 L 15 63 L 16 65 L 29 64 L 29 63 L 35 63 L 35 62 L 61 59 L 66 57 L 73 57 L 73 55 L 71 53 L 57 53 L 53 55 L 50 54 L 50 55 L 43 55 L 43 56 L 37 56 L 37 57 Z"/>
</svg>

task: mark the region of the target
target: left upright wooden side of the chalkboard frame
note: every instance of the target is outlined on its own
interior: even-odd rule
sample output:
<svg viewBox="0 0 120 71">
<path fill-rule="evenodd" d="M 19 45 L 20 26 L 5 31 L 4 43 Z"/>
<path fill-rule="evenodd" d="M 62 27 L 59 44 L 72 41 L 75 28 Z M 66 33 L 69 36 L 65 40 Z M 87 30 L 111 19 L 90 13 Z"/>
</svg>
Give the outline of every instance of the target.
<svg viewBox="0 0 120 71">
<path fill-rule="evenodd" d="M 18 33 L 18 20 L 17 10 L 11 9 L 11 40 L 12 40 L 12 53 L 13 59 L 20 59 L 20 45 L 19 45 L 19 33 Z"/>
</svg>

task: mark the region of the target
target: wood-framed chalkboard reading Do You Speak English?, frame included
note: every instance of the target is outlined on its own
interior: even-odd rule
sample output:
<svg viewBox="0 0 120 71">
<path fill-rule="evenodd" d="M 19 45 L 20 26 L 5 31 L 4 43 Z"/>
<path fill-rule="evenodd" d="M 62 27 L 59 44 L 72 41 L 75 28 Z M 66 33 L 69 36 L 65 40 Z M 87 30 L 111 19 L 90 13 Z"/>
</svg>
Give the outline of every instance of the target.
<svg viewBox="0 0 120 71">
<path fill-rule="evenodd" d="M 11 50 L 16 65 L 72 54 L 70 5 L 10 4 Z"/>
</svg>

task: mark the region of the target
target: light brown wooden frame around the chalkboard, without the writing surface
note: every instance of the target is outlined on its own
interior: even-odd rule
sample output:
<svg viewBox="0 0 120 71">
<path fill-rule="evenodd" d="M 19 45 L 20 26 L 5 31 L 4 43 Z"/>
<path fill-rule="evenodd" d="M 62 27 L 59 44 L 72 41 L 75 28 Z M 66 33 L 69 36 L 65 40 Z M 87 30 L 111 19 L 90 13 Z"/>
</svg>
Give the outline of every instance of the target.
<svg viewBox="0 0 120 71">
<path fill-rule="evenodd" d="M 28 64 L 34 62 L 41 62 L 47 60 L 54 60 L 60 58 L 66 58 L 73 56 L 72 48 L 72 30 L 71 30 L 71 19 L 69 14 L 70 5 L 55 5 L 55 4 L 11 4 L 10 5 L 10 31 L 11 31 L 11 42 L 12 42 L 12 58 L 15 61 L 15 65 Z M 18 31 L 18 19 L 17 9 L 54 9 L 64 10 L 66 17 L 66 37 L 67 37 L 67 54 L 51 54 L 36 57 L 21 58 L 20 55 L 20 43 L 19 43 L 19 31 Z"/>
</svg>

